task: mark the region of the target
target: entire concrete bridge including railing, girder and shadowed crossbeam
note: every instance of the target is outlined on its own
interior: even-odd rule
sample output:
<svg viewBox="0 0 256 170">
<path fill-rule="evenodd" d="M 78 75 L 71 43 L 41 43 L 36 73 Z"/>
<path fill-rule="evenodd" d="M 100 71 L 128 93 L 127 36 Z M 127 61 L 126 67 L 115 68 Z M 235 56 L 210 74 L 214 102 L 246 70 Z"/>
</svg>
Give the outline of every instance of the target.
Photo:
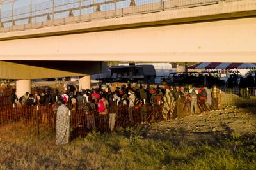
<svg viewBox="0 0 256 170">
<path fill-rule="evenodd" d="M 125 8 L 117 8 L 122 3 L 117 0 L 77 2 L 78 7 L 62 11 L 54 11 L 53 4 L 46 13 L 36 13 L 31 5 L 25 17 L 15 17 L 14 10 L 9 18 L 2 14 L 0 78 L 85 76 L 106 70 L 108 60 L 256 62 L 255 0 L 170 0 L 142 5 L 132 0 Z M 106 4 L 114 8 L 100 10 Z M 84 8 L 94 11 L 82 14 Z M 79 15 L 74 15 L 76 10 Z M 61 12 L 68 17 L 54 17 Z M 35 22 L 42 16 L 45 20 Z"/>
</svg>

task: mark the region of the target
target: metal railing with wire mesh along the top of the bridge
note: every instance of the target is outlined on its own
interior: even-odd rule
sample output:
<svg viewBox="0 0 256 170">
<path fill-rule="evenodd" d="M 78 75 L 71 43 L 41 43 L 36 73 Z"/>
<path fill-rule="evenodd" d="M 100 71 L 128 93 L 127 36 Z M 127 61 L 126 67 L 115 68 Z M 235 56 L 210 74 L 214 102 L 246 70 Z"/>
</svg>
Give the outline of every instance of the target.
<svg viewBox="0 0 256 170">
<path fill-rule="evenodd" d="M 0 32 L 23 31 L 177 8 L 193 8 L 218 4 L 221 1 L 230 0 L 51 0 L 36 4 L 31 0 L 29 6 L 0 11 Z"/>
</svg>

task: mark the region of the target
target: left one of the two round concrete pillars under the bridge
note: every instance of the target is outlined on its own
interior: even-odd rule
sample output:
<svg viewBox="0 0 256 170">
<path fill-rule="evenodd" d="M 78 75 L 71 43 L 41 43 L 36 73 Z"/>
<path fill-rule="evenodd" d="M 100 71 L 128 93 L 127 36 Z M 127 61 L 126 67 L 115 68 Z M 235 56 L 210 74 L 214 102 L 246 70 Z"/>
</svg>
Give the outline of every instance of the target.
<svg viewBox="0 0 256 170">
<path fill-rule="evenodd" d="M 17 80 L 16 81 L 16 94 L 18 99 L 26 92 L 31 93 L 31 80 Z"/>
</svg>

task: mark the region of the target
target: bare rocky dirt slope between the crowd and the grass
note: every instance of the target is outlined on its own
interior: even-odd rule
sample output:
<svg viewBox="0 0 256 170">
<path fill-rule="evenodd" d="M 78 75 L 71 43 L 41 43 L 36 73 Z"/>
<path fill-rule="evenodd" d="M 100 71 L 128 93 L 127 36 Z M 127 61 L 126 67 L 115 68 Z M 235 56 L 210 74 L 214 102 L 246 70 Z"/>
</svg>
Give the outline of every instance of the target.
<svg viewBox="0 0 256 170">
<path fill-rule="evenodd" d="M 189 115 L 170 122 L 147 125 L 143 136 L 152 139 L 171 139 L 175 143 L 212 143 L 216 136 L 255 136 L 256 108 L 228 107 L 198 115 Z"/>
</svg>

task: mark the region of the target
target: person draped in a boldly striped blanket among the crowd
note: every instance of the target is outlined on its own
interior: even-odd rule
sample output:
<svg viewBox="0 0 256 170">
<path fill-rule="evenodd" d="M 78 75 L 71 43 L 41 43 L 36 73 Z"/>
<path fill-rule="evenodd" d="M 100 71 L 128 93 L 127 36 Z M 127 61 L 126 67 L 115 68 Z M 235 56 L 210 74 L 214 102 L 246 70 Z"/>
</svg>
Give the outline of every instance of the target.
<svg viewBox="0 0 256 170">
<path fill-rule="evenodd" d="M 169 87 L 166 87 L 166 91 L 164 94 L 164 108 L 163 108 L 163 118 L 164 120 L 170 121 L 170 118 L 173 113 L 173 104 L 174 104 L 174 97 L 170 92 Z"/>
</svg>

